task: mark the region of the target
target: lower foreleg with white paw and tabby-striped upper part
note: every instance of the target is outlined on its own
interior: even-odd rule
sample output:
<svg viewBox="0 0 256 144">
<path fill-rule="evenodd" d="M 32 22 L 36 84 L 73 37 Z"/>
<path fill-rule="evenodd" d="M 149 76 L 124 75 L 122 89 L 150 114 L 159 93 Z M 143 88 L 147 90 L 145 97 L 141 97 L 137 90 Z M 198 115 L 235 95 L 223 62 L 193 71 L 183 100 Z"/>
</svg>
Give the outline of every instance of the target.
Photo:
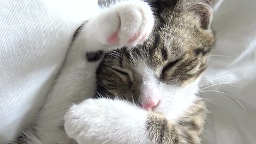
<svg viewBox="0 0 256 144">
<path fill-rule="evenodd" d="M 204 112 L 201 105 L 188 117 L 172 122 L 163 115 L 111 99 L 87 99 L 65 115 L 65 130 L 85 143 L 200 143 Z"/>
</svg>

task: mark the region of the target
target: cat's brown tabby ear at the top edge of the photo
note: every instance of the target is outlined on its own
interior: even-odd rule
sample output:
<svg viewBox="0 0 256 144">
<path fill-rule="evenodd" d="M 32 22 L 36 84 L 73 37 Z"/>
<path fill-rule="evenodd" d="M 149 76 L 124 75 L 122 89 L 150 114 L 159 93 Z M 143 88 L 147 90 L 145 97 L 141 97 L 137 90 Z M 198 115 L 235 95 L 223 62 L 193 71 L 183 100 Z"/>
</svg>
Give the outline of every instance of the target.
<svg viewBox="0 0 256 144">
<path fill-rule="evenodd" d="M 195 12 L 200 17 L 201 27 L 211 29 L 212 0 L 180 0 L 182 7 Z"/>
</svg>

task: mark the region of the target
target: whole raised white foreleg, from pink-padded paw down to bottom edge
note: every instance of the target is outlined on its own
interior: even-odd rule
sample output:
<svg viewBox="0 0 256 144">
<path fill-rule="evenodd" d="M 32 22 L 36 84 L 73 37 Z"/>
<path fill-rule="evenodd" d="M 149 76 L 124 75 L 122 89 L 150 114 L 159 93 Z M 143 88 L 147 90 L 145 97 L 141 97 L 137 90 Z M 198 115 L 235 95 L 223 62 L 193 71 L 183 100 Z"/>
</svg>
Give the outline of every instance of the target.
<svg viewBox="0 0 256 144">
<path fill-rule="evenodd" d="M 72 103 L 94 95 L 95 71 L 104 51 L 133 46 L 149 35 L 154 25 L 149 5 L 124 1 L 99 12 L 76 31 L 60 75 L 39 113 L 27 143 L 69 143 L 63 116 Z"/>
</svg>

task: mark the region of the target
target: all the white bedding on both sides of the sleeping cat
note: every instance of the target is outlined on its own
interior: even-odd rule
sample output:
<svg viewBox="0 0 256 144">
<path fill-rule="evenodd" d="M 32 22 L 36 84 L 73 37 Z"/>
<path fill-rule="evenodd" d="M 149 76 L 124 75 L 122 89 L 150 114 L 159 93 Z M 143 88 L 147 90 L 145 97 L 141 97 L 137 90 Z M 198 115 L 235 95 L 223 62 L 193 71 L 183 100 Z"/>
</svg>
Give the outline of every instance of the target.
<svg viewBox="0 0 256 144">
<path fill-rule="evenodd" d="M 203 143 L 255 143 L 256 1 L 213 4 L 218 42 L 200 92 L 209 101 Z M 0 2 L 0 143 L 33 121 L 74 31 L 96 6 L 82 0 Z"/>
</svg>

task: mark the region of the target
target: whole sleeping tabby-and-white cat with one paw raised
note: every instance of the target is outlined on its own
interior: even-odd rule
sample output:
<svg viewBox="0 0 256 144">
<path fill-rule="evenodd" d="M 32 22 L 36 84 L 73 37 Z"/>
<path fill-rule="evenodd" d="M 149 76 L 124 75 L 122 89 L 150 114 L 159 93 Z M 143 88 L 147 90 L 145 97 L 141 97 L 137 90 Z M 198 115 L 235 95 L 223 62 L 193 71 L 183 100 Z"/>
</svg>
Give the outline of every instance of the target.
<svg viewBox="0 0 256 144">
<path fill-rule="evenodd" d="M 102 10 L 77 29 L 20 142 L 201 143 L 205 106 L 196 94 L 215 42 L 211 21 L 211 0 L 131 0 Z"/>
</svg>

